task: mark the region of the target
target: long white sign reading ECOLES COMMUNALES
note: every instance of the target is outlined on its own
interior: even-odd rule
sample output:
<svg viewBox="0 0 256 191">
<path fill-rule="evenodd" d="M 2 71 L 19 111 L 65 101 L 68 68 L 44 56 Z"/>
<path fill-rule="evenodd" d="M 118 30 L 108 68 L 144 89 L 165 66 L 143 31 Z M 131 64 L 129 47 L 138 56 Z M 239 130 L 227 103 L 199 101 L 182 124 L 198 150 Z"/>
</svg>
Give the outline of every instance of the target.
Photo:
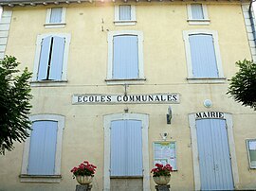
<svg viewBox="0 0 256 191">
<path fill-rule="evenodd" d="M 73 95 L 72 104 L 179 103 L 179 94 Z"/>
</svg>

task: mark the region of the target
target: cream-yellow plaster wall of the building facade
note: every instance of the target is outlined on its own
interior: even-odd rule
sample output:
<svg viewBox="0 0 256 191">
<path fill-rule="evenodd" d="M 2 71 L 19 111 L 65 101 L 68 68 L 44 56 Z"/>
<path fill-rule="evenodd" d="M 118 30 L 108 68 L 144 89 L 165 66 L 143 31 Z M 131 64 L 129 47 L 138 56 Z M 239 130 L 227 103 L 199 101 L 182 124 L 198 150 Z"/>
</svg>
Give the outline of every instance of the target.
<svg viewBox="0 0 256 191">
<path fill-rule="evenodd" d="M 62 87 L 33 87 L 32 114 L 56 113 L 65 116 L 61 183 L 21 183 L 23 144 L 0 158 L 0 190 L 74 190 L 70 169 L 88 160 L 98 166 L 93 190 L 103 186 L 103 115 L 149 114 L 150 168 L 153 167 L 153 141 L 167 131 L 177 143 L 178 171 L 172 173 L 172 190 L 192 190 L 192 145 L 188 114 L 204 111 L 231 113 L 240 183 L 239 188 L 256 188 L 255 170 L 248 170 L 246 138 L 256 137 L 256 114 L 226 95 L 228 81 L 221 84 L 189 84 L 182 31 L 218 31 L 223 71 L 231 78 L 234 62 L 250 59 L 247 33 L 240 4 L 207 3 L 210 26 L 190 26 L 186 3 L 137 3 L 137 25 L 115 26 L 114 4 L 70 4 L 66 7 L 64 28 L 45 28 L 46 9 L 51 6 L 14 7 L 9 30 L 7 54 L 14 55 L 33 71 L 38 34 L 70 33 L 67 63 L 68 82 Z M 103 20 L 103 23 L 102 23 Z M 103 31 L 101 31 L 101 26 Z M 106 85 L 107 31 L 140 30 L 144 35 L 144 85 L 129 85 L 128 94 L 179 93 L 174 104 L 172 125 L 166 124 L 168 104 L 72 105 L 73 94 L 124 94 L 122 85 Z M 210 98 L 210 109 L 203 101 Z M 170 137 L 169 137 L 170 139 Z M 14 180 L 10 182 L 9 180 Z M 154 182 L 151 180 L 151 189 Z"/>
</svg>

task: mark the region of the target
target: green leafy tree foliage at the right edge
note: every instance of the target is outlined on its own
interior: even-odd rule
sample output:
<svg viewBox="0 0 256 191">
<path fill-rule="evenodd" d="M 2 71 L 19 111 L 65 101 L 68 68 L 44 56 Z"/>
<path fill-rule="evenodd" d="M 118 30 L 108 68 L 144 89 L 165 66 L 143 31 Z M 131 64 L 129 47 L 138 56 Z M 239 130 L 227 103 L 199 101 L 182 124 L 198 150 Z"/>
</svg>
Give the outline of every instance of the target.
<svg viewBox="0 0 256 191">
<path fill-rule="evenodd" d="M 229 91 L 237 102 L 256 110 L 256 63 L 252 61 L 237 61 L 239 71 L 230 79 Z"/>
</svg>

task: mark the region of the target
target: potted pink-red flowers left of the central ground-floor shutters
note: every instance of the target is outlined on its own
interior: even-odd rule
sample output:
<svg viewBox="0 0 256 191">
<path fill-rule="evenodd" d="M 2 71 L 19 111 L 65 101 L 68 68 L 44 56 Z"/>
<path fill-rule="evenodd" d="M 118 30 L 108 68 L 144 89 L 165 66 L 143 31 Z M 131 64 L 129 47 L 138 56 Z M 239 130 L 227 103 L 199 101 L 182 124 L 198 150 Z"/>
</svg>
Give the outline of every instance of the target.
<svg viewBox="0 0 256 191">
<path fill-rule="evenodd" d="M 93 181 L 97 166 L 89 164 L 89 162 L 84 161 L 81 165 L 75 166 L 71 169 L 73 173 L 73 179 L 76 178 L 77 182 L 80 184 L 89 184 Z"/>
</svg>

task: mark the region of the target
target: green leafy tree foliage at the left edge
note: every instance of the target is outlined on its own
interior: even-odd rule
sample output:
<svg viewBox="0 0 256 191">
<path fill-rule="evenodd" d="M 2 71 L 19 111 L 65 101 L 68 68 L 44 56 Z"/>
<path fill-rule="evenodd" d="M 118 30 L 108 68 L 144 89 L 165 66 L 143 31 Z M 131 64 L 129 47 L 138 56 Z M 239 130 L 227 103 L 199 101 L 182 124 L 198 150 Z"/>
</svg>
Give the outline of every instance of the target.
<svg viewBox="0 0 256 191">
<path fill-rule="evenodd" d="M 0 61 L 0 154 L 13 149 L 13 142 L 24 142 L 30 130 L 31 105 L 28 79 L 32 73 L 27 68 L 20 73 L 20 63 L 14 57 Z"/>
</svg>

